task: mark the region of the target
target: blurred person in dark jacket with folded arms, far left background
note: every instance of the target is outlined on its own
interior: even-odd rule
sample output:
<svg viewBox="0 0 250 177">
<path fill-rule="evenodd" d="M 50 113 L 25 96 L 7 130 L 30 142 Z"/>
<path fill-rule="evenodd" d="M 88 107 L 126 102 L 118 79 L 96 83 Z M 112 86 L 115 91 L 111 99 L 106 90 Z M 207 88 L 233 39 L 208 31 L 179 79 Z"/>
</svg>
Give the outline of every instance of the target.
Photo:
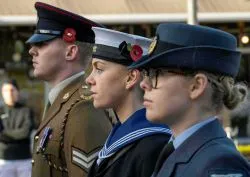
<svg viewBox="0 0 250 177">
<path fill-rule="evenodd" d="M 4 81 L 1 89 L 4 106 L 0 108 L 0 177 L 30 177 L 34 114 L 19 101 L 16 80 Z"/>
</svg>

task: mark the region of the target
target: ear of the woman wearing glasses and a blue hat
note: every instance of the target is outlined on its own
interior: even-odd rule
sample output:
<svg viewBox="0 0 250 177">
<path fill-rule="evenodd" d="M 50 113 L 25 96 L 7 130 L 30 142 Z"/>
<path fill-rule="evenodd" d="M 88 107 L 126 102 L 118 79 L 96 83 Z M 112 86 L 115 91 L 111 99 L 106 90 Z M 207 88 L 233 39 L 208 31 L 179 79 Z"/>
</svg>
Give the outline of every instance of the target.
<svg viewBox="0 0 250 177">
<path fill-rule="evenodd" d="M 189 96 L 195 100 L 201 96 L 208 85 L 208 78 L 205 74 L 198 73 L 194 76 L 189 87 Z"/>
</svg>

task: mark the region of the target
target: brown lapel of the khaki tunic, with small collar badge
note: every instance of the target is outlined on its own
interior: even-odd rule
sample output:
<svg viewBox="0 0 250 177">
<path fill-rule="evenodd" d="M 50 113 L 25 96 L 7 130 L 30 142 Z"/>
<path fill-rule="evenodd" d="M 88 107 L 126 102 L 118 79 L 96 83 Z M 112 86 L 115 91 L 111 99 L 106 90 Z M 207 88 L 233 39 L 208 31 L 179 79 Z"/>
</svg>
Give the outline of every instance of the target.
<svg viewBox="0 0 250 177">
<path fill-rule="evenodd" d="M 59 93 L 54 103 L 45 113 L 45 118 L 41 122 L 39 128 L 37 129 L 37 132 L 40 132 L 48 124 L 48 122 L 50 122 L 55 117 L 55 115 L 61 110 L 63 104 L 67 102 L 73 95 L 73 93 L 75 93 L 79 89 L 82 77 L 83 76 L 77 77 Z"/>
</svg>

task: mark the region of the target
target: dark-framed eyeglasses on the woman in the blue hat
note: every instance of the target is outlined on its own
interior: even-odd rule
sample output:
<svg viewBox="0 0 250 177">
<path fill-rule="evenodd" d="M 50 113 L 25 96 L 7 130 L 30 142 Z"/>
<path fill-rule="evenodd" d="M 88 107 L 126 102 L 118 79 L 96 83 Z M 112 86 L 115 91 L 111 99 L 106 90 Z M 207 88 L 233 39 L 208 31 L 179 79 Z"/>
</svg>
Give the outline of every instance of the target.
<svg viewBox="0 0 250 177">
<path fill-rule="evenodd" d="M 157 69 L 143 69 L 141 71 L 143 79 L 148 79 L 150 86 L 154 89 L 157 88 L 158 77 L 160 75 L 165 75 L 167 73 L 172 73 L 175 75 L 194 75 L 193 71 L 180 71 L 180 70 L 169 70 L 166 68 L 157 68 Z"/>
</svg>

